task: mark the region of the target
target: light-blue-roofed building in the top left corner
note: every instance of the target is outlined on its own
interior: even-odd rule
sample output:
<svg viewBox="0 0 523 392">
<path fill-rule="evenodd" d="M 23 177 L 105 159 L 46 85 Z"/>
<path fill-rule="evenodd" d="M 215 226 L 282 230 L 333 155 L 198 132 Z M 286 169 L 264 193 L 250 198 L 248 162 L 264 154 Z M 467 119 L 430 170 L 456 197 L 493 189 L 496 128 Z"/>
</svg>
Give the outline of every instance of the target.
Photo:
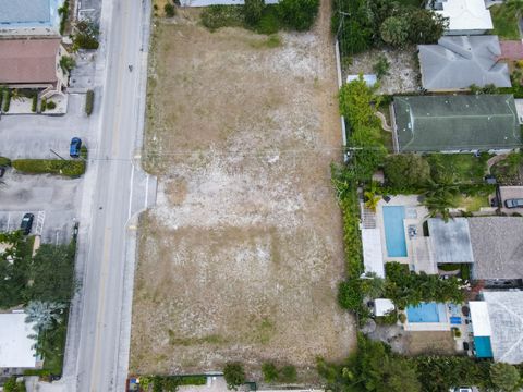
<svg viewBox="0 0 523 392">
<path fill-rule="evenodd" d="M 0 38 L 60 36 L 63 0 L 0 0 Z"/>
</svg>

